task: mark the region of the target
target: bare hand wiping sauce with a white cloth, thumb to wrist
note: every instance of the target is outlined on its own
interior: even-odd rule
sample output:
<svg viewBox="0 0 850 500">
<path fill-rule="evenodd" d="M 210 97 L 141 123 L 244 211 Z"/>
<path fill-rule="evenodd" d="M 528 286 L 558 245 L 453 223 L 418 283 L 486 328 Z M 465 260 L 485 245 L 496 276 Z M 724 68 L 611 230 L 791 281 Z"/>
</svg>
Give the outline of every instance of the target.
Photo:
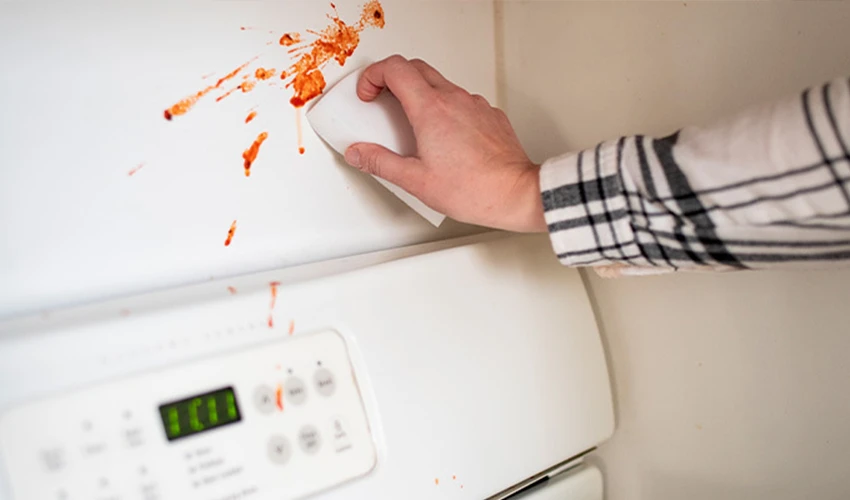
<svg viewBox="0 0 850 500">
<path fill-rule="evenodd" d="M 382 177 L 453 219 L 510 231 L 546 231 L 540 167 L 528 159 L 507 116 L 424 61 L 395 55 L 369 66 L 357 85 L 364 101 L 384 88 L 401 102 L 417 157 L 354 144 L 346 161 Z"/>
</svg>

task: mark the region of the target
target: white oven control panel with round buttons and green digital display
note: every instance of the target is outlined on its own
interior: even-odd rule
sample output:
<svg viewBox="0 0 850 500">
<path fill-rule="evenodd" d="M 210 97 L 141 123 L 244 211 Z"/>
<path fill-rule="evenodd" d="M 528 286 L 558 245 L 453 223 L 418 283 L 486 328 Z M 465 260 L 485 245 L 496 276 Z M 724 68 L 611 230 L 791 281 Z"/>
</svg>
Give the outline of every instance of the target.
<svg viewBox="0 0 850 500">
<path fill-rule="evenodd" d="M 0 453 L 13 500 L 301 498 L 376 463 L 333 330 L 13 408 Z"/>
</svg>

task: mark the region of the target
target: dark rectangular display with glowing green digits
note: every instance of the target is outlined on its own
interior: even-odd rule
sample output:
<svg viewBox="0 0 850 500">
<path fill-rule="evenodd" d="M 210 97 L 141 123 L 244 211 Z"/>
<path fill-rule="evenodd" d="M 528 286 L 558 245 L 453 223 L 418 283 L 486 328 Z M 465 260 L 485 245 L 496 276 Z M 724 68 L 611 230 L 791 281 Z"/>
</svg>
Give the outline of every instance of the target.
<svg viewBox="0 0 850 500">
<path fill-rule="evenodd" d="M 159 407 L 169 441 L 194 436 L 242 419 L 232 387 L 166 403 Z"/>
</svg>

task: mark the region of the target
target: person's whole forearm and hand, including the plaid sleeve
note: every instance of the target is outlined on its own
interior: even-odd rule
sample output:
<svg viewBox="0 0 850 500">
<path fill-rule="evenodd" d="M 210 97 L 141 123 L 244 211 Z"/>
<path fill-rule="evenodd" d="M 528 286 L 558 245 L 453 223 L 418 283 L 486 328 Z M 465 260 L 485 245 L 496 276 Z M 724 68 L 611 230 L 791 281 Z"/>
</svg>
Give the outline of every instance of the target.
<svg viewBox="0 0 850 500">
<path fill-rule="evenodd" d="M 850 260 L 846 80 L 711 127 L 625 137 L 542 168 L 501 110 L 426 63 L 385 59 L 367 69 L 358 93 L 370 100 L 383 88 L 413 125 L 417 157 L 357 144 L 350 164 L 463 222 L 548 229 L 566 265 L 637 274 Z"/>
</svg>

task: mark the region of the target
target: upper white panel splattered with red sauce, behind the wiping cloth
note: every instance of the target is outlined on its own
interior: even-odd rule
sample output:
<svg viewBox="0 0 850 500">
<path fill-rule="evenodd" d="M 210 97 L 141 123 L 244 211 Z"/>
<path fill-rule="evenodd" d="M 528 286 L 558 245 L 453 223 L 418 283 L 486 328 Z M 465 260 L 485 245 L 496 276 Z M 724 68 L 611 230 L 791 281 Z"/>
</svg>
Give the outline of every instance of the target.
<svg viewBox="0 0 850 500">
<path fill-rule="evenodd" d="M 494 97 L 491 2 L 380 3 L 328 86 L 397 52 Z M 290 104 L 310 30 L 373 5 L 335 4 L 0 2 L 0 318 L 477 231 L 432 227 Z"/>
</svg>

